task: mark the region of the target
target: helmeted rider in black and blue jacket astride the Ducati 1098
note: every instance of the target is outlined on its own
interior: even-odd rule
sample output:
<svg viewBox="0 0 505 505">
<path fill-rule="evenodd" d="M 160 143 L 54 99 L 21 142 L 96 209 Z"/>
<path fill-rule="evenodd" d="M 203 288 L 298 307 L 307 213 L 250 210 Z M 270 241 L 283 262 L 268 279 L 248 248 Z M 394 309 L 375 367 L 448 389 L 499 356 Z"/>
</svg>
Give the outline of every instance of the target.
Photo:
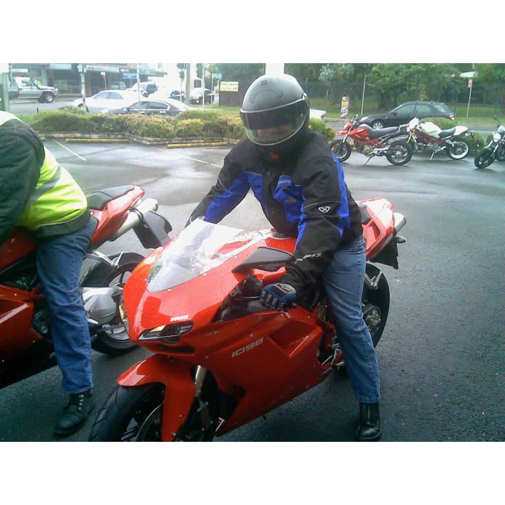
<svg viewBox="0 0 505 505">
<path fill-rule="evenodd" d="M 352 388 L 360 402 L 356 437 L 381 435 L 379 368 L 363 320 L 365 241 L 358 206 L 324 137 L 308 129 L 309 101 L 290 75 L 263 76 L 245 93 L 240 116 L 247 139 L 225 158 L 216 185 L 189 219 L 217 223 L 249 188 L 280 233 L 297 237 L 295 260 L 261 301 L 282 310 L 321 278 Z"/>
</svg>

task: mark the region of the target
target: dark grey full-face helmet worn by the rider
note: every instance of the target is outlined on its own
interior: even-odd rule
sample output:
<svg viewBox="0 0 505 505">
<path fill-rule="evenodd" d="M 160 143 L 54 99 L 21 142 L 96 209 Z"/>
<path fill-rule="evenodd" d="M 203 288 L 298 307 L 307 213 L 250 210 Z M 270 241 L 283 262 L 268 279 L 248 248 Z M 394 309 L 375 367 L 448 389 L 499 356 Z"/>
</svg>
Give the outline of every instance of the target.
<svg viewBox="0 0 505 505">
<path fill-rule="evenodd" d="M 278 159 L 305 135 L 309 111 L 307 94 L 292 75 L 264 75 L 245 92 L 240 118 L 249 140 Z"/>
</svg>

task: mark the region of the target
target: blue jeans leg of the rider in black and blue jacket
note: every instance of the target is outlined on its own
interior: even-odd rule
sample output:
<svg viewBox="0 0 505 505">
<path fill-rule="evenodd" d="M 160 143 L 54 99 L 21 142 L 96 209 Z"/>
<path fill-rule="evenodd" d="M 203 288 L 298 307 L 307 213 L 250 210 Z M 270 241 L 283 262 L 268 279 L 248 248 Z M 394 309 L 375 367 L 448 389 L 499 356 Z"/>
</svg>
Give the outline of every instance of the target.
<svg viewBox="0 0 505 505">
<path fill-rule="evenodd" d="M 379 366 L 361 309 L 365 265 L 362 235 L 337 249 L 322 278 L 352 390 L 358 401 L 375 403 L 380 399 Z"/>
</svg>

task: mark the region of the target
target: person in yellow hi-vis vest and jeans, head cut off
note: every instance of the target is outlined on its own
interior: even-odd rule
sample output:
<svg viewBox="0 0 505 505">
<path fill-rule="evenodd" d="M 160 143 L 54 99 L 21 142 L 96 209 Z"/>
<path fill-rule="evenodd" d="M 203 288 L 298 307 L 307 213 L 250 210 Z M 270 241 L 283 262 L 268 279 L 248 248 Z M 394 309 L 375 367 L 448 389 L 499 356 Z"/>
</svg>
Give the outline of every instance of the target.
<svg viewBox="0 0 505 505">
<path fill-rule="evenodd" d="M 62 389 L 70 394 L 55 433 L 70 435 L 94 405 L 89 330 L 77 293 L 93 224 L 81 188 L 40 137 L 0 111 L 0 244 L 15 226 L 29 230 L 36 244 Z"/>
</svg>

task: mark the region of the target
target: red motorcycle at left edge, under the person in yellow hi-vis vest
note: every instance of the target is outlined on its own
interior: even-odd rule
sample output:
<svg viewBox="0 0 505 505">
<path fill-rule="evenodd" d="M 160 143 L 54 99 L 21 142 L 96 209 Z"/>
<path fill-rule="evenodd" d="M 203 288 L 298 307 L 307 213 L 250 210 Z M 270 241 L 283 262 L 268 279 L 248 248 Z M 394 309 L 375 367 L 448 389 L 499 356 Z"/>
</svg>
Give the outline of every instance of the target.
<svg viewBox="0 0 505 505">
<path fill-rule="evenodd" d="M 142 245 L 168 241 L 169 223 L 154 211 L 158 202 L 142 201 L 138 186 L 119 186 L 88 196 L 95 230 L 86 258 L 94 263 L 80 281 L 93 349 L 121 354 L 133 348 L 119 314 L 123 286 L 142 256 L 134 252 L 104 255 L 96 248 L 134 229 Z M 0 244 L 0 388 L 56 365 L 49 312 L 35 266 L 35 245 L 15 228 Z"/>
</svg>

